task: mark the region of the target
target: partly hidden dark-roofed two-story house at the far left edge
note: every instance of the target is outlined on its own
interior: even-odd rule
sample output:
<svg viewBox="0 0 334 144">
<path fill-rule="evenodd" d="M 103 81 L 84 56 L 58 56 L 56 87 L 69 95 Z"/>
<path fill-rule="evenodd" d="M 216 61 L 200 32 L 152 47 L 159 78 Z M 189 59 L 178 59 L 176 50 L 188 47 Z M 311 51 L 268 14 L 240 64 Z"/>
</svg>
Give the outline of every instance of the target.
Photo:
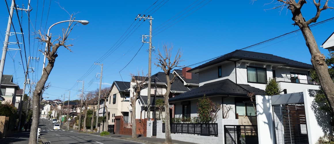
<svg viewBox="0 0 334 144">
<path fill-rule="evenodd" d="M 13 75 L 3 75 L 1 80 L 1 94 L 5 102 L 13 104 L 16 108 L 19 108 L 21 103 L 21 97 L 16 100 L 16 91 L 20 90 L 20 87 L 13 83 Z"/>
</svg>

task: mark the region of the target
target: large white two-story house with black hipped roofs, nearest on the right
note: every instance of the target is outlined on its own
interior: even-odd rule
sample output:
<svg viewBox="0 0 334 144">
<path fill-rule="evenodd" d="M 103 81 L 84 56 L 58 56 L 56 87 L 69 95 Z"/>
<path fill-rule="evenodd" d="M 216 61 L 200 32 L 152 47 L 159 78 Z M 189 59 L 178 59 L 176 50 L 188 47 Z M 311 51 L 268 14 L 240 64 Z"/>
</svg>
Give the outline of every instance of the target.
<svg viewBox="0 0 334 144">
<path fill-rule="evenodd" d="M 256 124 L 249 119 L 256 116 L 253 105 L 244 103 L 250 101 L 247 94 L 266 95 L 269 79 L 276 79 L 287 93 L 317 90 L 319 86 L 310 78 L 312 68 L 311 64 L 273 54 L 236 50 L 188 70 L 199 74 L 199 88 L 170 98 L 169 102 L 175 105 L 175 117 L 197 117 L 198 99 L 205 95 L 220 105 L 218 119 Z"/>
</svg>

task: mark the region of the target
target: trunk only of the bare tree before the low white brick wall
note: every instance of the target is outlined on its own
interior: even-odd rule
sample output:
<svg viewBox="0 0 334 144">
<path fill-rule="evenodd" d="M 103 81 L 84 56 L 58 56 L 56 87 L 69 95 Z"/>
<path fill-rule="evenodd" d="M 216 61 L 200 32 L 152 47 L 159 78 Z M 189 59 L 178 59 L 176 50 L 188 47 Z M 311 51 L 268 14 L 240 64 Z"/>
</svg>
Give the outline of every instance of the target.
<svg viewBox="0 0 334 144">
<path fill-rule="evenodd" d="M 169 78 L 169 75 L 166 75 L 166 84 L 167 84 L 167 90 L 164 95 L 165 97 L 165 144 L 171 144 L 172 143 L 172 137 L 170 135 L 170 119 L 169 119 L 169 93 L 171 89 L 171 80 Z"/>
</svg>

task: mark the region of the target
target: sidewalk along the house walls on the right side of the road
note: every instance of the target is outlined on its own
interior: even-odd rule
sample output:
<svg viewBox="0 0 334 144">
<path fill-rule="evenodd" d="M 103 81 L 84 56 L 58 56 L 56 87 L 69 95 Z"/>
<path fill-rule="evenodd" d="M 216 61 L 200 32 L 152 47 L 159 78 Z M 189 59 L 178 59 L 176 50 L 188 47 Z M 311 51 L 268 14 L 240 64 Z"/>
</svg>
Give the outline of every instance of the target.
<svg viewBox="0 0 334 144">
<path fill-rule="evenodd" d="M 80 132 L 80 133 L 100 136 L 100 133 L 85 133 L 85 132 Z M 132 136 L 130 135 L 121 135 L 121 134 L 110 134 L 110 135 L 105 135 L 104 137 L 135 141 L 135 142 L 140 142 L 140 143 L 145 143 L 145 144 L 162 144 L 165 142 L 165 139 L 150 138 L 150 137 L 138 137 L 136 139 L 133 139 Z M 193 143 L 177 141 L 177 140 L 172 140 L 172 143 L 173 144 L 193 144 Z"/>
</svg>

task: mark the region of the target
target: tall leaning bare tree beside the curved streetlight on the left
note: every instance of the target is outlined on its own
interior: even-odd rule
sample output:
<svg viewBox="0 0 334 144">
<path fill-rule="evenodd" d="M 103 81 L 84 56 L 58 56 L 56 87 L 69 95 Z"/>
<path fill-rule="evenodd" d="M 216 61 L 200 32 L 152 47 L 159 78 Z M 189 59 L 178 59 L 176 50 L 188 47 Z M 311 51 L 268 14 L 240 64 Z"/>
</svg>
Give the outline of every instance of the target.
<svg viewBox="0 0 334 144">
<path fill-rule="evenodd" d="M 39 122 L 39 107 L 40 107 L 40 96 L 42 93 L 42 90 L 45 88 L 45 82 L 48 79 L 52 68 L 54 67 L 54 63 L 55 63 L 55 59 L 58 56 L 57 54 L 57 50 L 60 46 L 65 47 L 66 49 L 70 50 L 70 46 L 72 46 L 72 44 L 66 44 L 66 41 L 69 40 L 68 36 L 71 33 L 74 25 L 73 24 L 73 20 L 75 19 L 75 17 L 73 17 L 73 15 L 71 15 L 70 17 L 70 22 L 68 23 L 68 27 L 65 29 L 62 29 L 62 36 L 57 36 L 57 38 L 55 38 L 53 41 L 51 41 L 51 34 L 49 35 L 43 35 L 40 31 L 39 31 L 39 36 L 37 39 L 39 39 L 39 41 L 41 42 L 45 42 L 47 43 L 47 49 L 46 51 L 42 51 L 45 55 L 46 58 L 48 59 L 48 63 L 46 65 L 45 68 L 43 68 L 43 74 L 40 78 L 40 80 L 37 82 L 35 90 L 33 92 L 33 96 L 32 96 L 32 125 L 31 125 L 31 131 L 30 131 L 30 136 L 29 136 L 29 144 L 35 144 L 36 139 L 37 139 L 37 128 L 38 128 L 38 122 Z"/>
</svg>

